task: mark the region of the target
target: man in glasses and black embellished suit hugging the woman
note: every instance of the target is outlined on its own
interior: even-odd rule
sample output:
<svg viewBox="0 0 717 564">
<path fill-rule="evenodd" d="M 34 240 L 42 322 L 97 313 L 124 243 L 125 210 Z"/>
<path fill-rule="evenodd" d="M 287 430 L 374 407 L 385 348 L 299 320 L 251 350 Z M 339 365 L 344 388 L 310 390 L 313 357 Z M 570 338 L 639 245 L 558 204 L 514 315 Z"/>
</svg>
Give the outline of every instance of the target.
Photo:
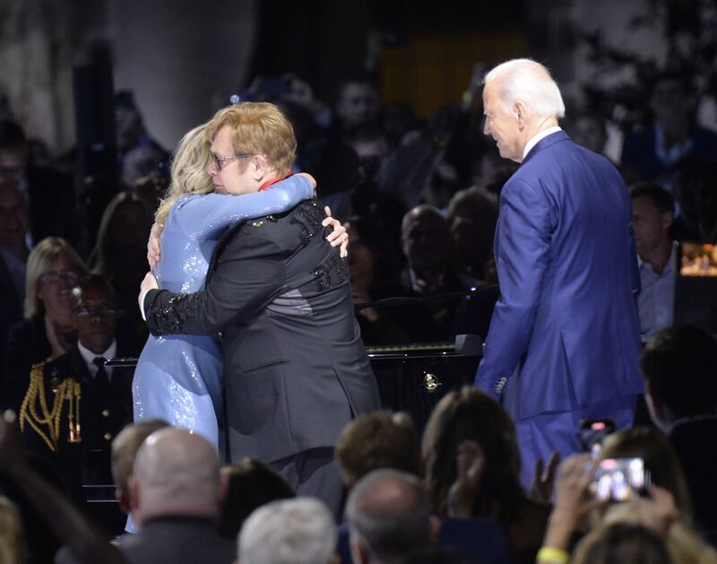
<svg viewBox="0 0 717 564">
<path fill-rule="evenodd" d="M 289 120 L 268 103 L 220 110 L 205 127 L 217 192 L 244 195 L 285 178 L 296 153 Z M 380 405 L 353 315 L 348 265 L 324 239 L 314 200 L 238 222 L 220 239 L 206 290 L 156 290 L 140 307 L 152 334 L 220 334 L 229 458 L 255 456 L 298 493 L 340 513 L 333 445 L 343 426 Z"/>
</svg>

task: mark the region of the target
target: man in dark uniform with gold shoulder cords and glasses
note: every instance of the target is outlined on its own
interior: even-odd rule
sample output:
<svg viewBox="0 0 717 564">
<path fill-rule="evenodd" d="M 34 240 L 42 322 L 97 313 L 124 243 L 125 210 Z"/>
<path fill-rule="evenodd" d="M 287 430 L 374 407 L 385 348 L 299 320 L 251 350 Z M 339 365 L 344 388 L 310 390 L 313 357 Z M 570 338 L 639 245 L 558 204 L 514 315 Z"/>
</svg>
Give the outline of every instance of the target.
<svg viewBox="0 0 717 564">
<path fill-rule="evenodd" d="M 33 369 L 20 412 L 22 435 L 30 450 L 56 464 L 71 497 L 108 533 L 118 533 L 124 525 L 119 510 L 87 501 L 114 497 L 110 447 L 132 422 L 132 371 L 106 367 L 105 361 L 131 351 L 116 337 L 117 311 L 108 282 L 97 274 L 80 280 L 70 271 L 51 274 L 76 282 L 77 340 L 64 355 Z"/>
</svg>

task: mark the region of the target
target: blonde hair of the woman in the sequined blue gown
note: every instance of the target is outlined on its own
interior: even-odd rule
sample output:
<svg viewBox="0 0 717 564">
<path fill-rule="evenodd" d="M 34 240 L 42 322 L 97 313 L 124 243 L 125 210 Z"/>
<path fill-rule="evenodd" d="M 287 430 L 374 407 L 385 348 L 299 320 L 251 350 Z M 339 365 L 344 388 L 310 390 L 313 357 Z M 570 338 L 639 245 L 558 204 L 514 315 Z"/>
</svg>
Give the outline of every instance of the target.
<svg viewBox="0 0 717 564">
<path fill-rule="evenodd" d="M 160 202 L 154 222 L 160 227 L 167 221 L 169 210 L 177 199 L 187 194 L 209 194 L 214 191 L 207 168 L 212 161 L 210 143 L 204 133 L 205 124 L 194 127 L 179 142 L 172 160 L 172 182 Z"/>
</svg>

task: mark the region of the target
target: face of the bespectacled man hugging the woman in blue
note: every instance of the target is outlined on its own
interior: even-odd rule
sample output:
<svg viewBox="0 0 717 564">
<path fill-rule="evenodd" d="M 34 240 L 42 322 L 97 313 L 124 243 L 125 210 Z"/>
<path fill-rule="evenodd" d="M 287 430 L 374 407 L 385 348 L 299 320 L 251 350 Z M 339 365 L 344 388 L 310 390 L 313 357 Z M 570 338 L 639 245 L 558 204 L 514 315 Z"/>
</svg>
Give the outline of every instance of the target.
<svg viewBox="0 0 717 564">
<path fill-rule="evenodd" d="M 220 159 L 235 157 L 233 131 L 223 126 L 212 141 L 212 154 Z M 261 183 L 255 177 L 254 157 L 238 158 L 220 165 L 212 161 L 207 172 L 212 177 L 214 189 L 220 194 L 249 194 L 257 192 Z"/>
</svg>

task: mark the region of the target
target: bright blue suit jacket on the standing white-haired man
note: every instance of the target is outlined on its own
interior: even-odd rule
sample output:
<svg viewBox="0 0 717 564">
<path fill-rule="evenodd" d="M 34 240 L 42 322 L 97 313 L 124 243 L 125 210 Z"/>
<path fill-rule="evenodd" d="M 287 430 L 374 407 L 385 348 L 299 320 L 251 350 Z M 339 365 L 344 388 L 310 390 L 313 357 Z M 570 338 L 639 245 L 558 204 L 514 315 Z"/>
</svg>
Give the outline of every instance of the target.
<svg viewBox="0 0 717 564">
<path fill-rule="evenodd" d="M 562 131 L 540 140 L 505 184 L 501 297 L 476 386 L 504 395 L 514 419 L 643 390 L 631 221 L 618 171 Z"/>
</svg>

